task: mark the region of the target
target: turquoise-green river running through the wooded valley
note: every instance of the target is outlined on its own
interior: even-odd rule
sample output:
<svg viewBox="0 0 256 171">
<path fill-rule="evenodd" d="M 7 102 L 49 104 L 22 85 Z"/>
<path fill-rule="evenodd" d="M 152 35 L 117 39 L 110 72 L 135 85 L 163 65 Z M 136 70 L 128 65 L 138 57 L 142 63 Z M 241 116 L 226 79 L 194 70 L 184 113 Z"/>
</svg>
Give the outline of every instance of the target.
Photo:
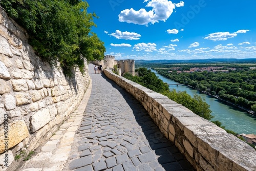
<svg viewBox="0 0 256 171">
<path fill-rule="evenodd" d="M 242 111 L 234 106 L 231 106 L 217 98 L 201 93 L 195 89 L 191 89 L 185 85 L 175 85 L 179 84 L 173 80 L 170 80 L 160 74 L 155 70 L 152 70 L 163 82 L 169 85 L 170 89 L 176 89 L 176 91 L 186 91 L 190 96 L 198 94 L 205 102 L 210 105 L 211 115 L 214 116 L 211 120 L 219 120 L 226 129 L 236 132 L 238 134 L 255 134 L 256 135 L 256 116 L 251 115 L 245 111 Z"/>
</svg>

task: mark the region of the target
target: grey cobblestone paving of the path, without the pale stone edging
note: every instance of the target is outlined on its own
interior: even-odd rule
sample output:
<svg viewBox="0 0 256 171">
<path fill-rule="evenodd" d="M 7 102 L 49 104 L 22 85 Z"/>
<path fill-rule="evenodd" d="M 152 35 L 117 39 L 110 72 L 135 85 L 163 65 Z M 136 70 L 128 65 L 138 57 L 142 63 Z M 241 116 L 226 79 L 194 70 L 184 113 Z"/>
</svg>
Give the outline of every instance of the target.
<svg viewBox="0 0 256 171">
<path fill-rule="evenodd" d="M 89 70 L 91 97 L 65 170 L 193 170 L 135 98 Z"/>
</svg>

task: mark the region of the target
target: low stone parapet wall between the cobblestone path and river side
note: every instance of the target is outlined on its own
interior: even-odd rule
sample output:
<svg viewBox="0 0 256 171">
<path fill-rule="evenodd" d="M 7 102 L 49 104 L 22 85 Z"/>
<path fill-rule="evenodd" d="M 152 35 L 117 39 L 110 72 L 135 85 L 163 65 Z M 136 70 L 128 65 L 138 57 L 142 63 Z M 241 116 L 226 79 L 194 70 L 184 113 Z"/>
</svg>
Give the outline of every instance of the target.
<svg viewBox="0 0 256 171">
<path fill-rule="evenodd" d="M 256 170 L 256 151 L 236 136 L 111 70 L 104 70 L 104 74 L 144 106 L 165 137 L 197 170 Z"/>
</svg>

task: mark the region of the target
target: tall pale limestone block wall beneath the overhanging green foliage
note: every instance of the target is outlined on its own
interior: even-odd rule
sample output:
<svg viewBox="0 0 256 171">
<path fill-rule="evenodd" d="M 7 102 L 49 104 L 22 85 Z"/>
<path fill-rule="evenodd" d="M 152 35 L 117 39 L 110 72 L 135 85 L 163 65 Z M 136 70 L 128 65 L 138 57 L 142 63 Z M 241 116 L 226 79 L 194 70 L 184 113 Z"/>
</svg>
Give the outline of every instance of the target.
<svg viewBox="0 0 256 171">
<path fill-rule="evenodd" d="M 74 69 L 73 77 L 52 69 L 0 8 L 0 170 L 21 149 L 28 153 L 49 139 L 76 109 L 90 82 L 85 65 L 84 75 Z"/>
</svg>

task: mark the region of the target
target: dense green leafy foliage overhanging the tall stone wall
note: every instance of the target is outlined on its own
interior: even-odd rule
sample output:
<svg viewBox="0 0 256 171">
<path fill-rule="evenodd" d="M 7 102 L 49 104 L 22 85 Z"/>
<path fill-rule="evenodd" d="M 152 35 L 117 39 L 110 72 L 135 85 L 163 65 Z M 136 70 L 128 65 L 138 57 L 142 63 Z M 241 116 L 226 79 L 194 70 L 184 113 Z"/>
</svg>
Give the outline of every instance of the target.
<svg viewBox="0 0 256 171">
<path fill-rule="evenodd" d="M 52 66 L 60 62 L 66 74 L 82 72 L 84 59 L 104 57 L 104 43 L 91 32 L 95 13 L 87 13 L 82 0 L 1 0 L 0 5 L 29 34 L 36 54 Z"/>
</svg>

